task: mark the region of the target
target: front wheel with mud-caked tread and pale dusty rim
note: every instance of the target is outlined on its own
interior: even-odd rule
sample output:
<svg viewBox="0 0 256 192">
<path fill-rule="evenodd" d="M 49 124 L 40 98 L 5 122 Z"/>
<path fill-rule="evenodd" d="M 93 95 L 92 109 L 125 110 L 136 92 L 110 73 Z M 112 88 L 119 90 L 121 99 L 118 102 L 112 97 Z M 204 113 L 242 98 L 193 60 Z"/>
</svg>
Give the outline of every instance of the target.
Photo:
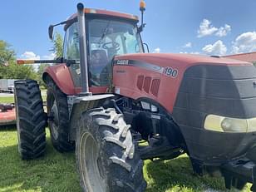
<svg viewBox="0 0 256 192">
<path fill-rule="evenodd" d="M 82 113 L 76 132 L 76 163 L 86 192 L 142 192 L 143 161 L 122 115 L 115 109 Z"/>
</svg>

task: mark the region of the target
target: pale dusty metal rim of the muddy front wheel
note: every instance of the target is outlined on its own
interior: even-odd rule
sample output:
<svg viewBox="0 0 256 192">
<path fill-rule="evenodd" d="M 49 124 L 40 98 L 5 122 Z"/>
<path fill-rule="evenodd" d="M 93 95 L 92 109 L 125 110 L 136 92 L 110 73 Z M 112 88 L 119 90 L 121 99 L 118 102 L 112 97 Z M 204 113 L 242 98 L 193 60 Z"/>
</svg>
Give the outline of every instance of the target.
<svg viewBox="0 0 256 192">
<path fill-rule="evenodd" d="M 83 185 L 88 192 L 105 192 L 106 178 L 99 157 L 99 147 L 93 136 L 86 132 L 80 141 L 80 168 Z"/>
</svg>

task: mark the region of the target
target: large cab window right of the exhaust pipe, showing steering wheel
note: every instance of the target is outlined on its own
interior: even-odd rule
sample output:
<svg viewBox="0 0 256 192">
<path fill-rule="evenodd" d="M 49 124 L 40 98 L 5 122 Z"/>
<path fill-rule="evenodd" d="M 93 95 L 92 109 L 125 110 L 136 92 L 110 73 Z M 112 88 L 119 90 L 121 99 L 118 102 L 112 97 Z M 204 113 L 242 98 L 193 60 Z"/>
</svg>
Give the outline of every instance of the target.
<svg viewBox="0 0 256 192">
<path fill-rule="evenodd" d="M 92 19 L 88 22 L 89 71 L 93 86 L 109 85 L 111 59 L 116 55 L 143 52 L 137 27 L 130 22 Z"/>
</svg>

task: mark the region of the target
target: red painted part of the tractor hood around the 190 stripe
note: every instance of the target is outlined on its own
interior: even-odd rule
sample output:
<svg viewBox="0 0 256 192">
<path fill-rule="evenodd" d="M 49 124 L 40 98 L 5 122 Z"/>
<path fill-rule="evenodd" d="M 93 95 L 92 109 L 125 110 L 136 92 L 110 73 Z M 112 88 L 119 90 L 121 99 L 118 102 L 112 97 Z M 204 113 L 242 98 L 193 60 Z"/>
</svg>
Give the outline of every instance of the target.
<svg viewBox="0 0 256 192">
<path fill-rule="evenodd" d="M 178 71 L 175 78 L 165 76 L 163 73 L 150 71 L 140 66 L 116 65 L 113 71 L 114 86 L 120 88 L 120 95 L 128 96 L 133 99 L 147 97 L 160 103 L 169 112 L 173 111 L 176 96 L 180 89 L 180 83 L 183 79 L 185 70 L 190 66 L 197 65 L 224 65 L 224 66 L 248 66 L 252 65 L 248 62 L 235 61 L 227 58 L 204 57 L 189 54 L 170 54 L 170 53 L 138 53 L 127 54 L 115 57 L 116 60 L 136 60 L 146 62 L 156 66 L 172 67 Z M 125 73 L 117 73 L 116 71 L 126 71 Z M 149 76 L 153 80 L 160 79 L 159 91 L 156 95 L 153 86 L 150 92 L 140 91 L 137 86 L 138 76 Z M 156 82 L 155 82 L 156 84 Z M 156 86 L 156 85 L 154 85 Z"/>
</svg>

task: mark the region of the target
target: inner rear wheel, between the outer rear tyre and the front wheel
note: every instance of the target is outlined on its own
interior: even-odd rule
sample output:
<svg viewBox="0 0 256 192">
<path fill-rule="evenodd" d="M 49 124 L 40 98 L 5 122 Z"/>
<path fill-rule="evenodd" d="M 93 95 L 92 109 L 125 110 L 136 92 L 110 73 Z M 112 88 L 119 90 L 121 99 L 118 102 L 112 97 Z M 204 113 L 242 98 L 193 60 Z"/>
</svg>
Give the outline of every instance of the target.
<svg viewBox="0 0 256 192">
<path fill-rule="evenodd" d="M 75 145 L 68 137 L 69 111 L 66 94 L 50 79 L 47 80 L 47 114 L 52 145 L 59 152 L 74 150 Z"/>
</svg>

